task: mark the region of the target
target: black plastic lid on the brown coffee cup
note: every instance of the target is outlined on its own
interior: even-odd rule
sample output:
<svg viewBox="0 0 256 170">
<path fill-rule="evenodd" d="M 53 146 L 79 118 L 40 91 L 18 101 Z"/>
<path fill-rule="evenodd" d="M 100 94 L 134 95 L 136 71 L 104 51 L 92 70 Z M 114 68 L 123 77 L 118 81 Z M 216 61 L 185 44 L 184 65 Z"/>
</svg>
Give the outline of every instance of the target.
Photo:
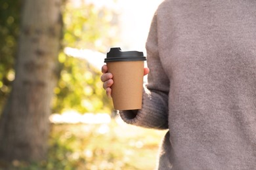
<svg viewBox="0 0 256 170">
<path fill-rule="evenodd" d="M 110 48 L 110 52 L 107 53 L 104 62 L 112 62 L 112 61 L 146 61 L 146 57 L 144 57 L 143 52 L 137 51 L 121 51 L 121 48 Z"/>
</svg>

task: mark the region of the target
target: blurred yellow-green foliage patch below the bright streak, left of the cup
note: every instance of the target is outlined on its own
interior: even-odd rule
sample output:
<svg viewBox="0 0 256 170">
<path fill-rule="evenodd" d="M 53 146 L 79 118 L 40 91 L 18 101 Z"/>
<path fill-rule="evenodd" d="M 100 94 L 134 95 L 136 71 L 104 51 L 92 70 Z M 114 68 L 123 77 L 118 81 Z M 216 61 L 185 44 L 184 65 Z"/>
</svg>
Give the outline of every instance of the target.
<svg viewBox="0 0 256 170">
<path fill-rule="evenodd" d="M 54 89 L 54 112 L 77 110 L 78 112 L 112 112 L 110 99 L 102 88 L 101 73 L 85 60 L 67 57 Z"/>
</svg>

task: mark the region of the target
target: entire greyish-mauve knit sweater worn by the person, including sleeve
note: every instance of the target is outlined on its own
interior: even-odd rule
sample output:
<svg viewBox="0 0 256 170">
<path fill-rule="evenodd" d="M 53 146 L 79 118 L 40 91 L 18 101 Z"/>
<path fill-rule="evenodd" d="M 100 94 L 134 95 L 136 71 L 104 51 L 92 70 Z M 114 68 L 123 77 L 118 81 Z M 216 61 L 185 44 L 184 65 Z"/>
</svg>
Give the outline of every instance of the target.
<svg viewBox="0 0 256 170">
<path fill-rule="evenodd" d="M 256 1 L 167 0 L 146 42 L 142 109 L 169 129 L 158 169 L 256 169 Z"/>
</svg>

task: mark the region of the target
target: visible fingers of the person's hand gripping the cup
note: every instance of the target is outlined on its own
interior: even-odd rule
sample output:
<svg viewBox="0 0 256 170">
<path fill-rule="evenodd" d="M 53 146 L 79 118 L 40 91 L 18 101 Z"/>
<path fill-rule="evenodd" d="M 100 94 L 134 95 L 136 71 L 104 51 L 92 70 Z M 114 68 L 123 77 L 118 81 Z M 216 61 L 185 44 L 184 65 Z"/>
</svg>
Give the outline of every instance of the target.
<svg viewBox="0 0 256 170">
<path fill-rule="evenodd" d="M 108 97 L 111 97 L 111 86 L 114 83 L 113 81 L 113 75 L 111 73 L 108 73 L 108 67 L 106 65 L 103 65 L 101 68 L 101 72 L 103 73 L 100 77 L 100 80 L 103 82 L 103 88 L 106 90 L 106 94 Z M 144 76 L 148 75 L 149 69 L 144 68 Z"/>
</svg>

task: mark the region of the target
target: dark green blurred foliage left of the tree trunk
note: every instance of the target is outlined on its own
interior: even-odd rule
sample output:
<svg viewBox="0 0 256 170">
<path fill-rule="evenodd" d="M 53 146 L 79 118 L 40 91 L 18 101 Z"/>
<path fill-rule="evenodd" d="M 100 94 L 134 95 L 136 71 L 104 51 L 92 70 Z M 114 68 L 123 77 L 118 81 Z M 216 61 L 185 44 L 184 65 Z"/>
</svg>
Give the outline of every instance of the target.
<svg viewBox="0 0 256 170">
<path fill-rule="evenodd" d="M 0 110 L 11 92 L 22 1 L 0 1 Z"/>
</svg>

